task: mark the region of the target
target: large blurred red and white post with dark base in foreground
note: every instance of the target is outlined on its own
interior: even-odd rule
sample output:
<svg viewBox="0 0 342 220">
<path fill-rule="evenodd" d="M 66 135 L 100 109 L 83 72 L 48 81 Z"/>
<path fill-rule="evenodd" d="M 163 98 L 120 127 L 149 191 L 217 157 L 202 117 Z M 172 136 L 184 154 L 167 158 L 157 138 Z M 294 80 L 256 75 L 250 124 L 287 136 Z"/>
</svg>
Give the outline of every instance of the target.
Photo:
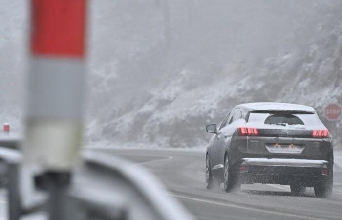
<svg viewBox="0 0 342 220">
<path fill-rule="evenodd" d="M 51 220 L 67 219 L 64 197 L 80 155 L 85 9 L 85 0 L 31 0 L 23 167 L 46 181 Z"/>
</svg>

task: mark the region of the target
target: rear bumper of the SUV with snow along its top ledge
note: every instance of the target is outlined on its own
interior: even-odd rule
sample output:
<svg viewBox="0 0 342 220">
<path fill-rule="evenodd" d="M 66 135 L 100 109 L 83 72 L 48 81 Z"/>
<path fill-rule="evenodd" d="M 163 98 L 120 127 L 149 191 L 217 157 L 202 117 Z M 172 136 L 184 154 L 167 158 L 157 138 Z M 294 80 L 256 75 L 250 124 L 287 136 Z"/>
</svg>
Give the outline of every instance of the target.
<svg viewBox="0 0 342 220">
<path fill-rule="evenodd" d="M 328 161 L 278 158 L 243 158 L 239 166 L 241 183 L 271 183 L 314 186 L 326 176 Z M 327 170 L 327 172 L 330 172 Z"/>
</svg>

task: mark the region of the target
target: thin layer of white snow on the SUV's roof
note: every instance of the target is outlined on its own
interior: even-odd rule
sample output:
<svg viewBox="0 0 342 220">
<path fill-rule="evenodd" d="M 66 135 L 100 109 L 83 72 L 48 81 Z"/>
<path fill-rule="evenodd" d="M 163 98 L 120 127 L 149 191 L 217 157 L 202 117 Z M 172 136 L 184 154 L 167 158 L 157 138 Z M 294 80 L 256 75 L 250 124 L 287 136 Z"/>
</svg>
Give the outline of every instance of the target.
<svg viewBox="0 0 342 220">
<path fill-rule="evenodd" d="M 291 103 L 278 103 L 278 102 L 255 102 L 241 104 L 236 107 L 242 107 L 250 110 L 267 110 L 267 111 L 307 111 L 316 112 L 310 106 L 291 104 Z"/>
</svg>

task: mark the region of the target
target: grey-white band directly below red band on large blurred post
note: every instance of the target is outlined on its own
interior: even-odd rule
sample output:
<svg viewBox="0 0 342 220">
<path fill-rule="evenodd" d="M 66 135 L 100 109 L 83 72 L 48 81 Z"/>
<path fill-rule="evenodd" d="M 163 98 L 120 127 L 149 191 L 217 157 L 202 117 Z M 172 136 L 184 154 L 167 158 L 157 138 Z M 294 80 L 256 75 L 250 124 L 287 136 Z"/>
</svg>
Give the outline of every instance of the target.
<svg viewBox="0 0 342 220">
<path fill-rule="evenodd" d="M 83 75 L 84 65 L 80 59 L 33 57 L 28 79 L 30 102 L 27 114 L 32 118 L 79 120 Z"/>
</svg>

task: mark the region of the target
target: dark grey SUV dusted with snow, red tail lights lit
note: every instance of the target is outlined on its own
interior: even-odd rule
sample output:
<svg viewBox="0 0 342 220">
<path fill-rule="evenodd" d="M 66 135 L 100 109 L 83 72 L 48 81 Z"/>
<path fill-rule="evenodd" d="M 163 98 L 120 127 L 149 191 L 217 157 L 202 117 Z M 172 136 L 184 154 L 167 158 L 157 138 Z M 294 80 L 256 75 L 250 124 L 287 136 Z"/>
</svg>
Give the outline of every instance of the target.
<svg viewBox="0 0 342 220">
<path fill-rule="evenodd" d="M 233 108 L 214 133 L 206 152 L 206 187 L 223 182 L 229 192 L 241 184 L 290 185 L 295 195 L 314 187 L 329 197 L 333 187 L 333 145 L 309 106 L 249 103 Z"/>
</svg>

